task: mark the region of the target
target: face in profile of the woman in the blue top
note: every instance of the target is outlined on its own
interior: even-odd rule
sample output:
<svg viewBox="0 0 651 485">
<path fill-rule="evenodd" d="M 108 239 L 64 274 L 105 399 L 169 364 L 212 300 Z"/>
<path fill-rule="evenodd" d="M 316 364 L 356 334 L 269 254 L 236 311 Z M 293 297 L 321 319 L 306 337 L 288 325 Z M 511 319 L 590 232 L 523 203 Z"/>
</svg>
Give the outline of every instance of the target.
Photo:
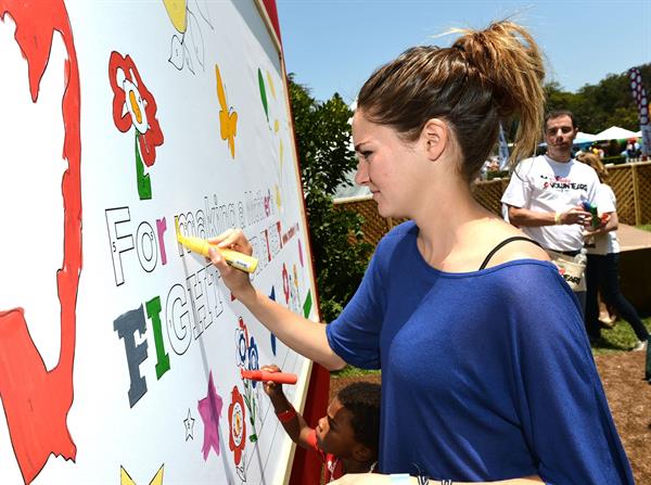
<svg viewBox="0 0 651 485">
<path fill-rule="evenodd" d="M 353 117 L 353 140 L 359 163 L 355 183 L 366 186 L 383 217 L 406 217 L 418 193 L 418 145 L 406 143 L 391 127 L 369 122 L 363 111 Z"/>
</svg>

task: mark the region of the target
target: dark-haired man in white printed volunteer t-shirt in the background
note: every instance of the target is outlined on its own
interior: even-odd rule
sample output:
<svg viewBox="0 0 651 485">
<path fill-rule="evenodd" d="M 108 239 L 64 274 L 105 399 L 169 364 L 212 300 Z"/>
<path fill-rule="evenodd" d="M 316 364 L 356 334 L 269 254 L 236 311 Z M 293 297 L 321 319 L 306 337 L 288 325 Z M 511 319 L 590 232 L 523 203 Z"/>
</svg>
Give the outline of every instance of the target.
<svg viewBox="0 0 651 485">
<path fill-rule="evenodd" d="M 600 186 L 597 173 L 572 157 L 577 132 L 571 112 L 548 114 L 547 154 L 522 161 L 501 199 L 513 226 L 546 250 L 569 256 L 584 246 L 583 231 L 590 227 L 591 214 L 583 202 L 596 203 Z M 575 294 L 585 309 L 585 291 Z"/>
</svg>

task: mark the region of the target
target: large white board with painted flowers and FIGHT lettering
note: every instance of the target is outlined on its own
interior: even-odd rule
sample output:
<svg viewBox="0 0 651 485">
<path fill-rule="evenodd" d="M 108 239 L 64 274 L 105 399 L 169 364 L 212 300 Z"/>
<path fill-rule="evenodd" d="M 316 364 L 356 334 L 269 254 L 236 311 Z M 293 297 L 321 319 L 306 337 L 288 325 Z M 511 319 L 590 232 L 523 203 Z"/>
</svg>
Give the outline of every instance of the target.
<svg viewBox="0 0 651 485">
<path fill-rule="evenodd" d="M 241 228 L 316 319 L 282 59 L 254 1 L 0 0 L 0 483 L 278 484 L 309 362 L 186 234 Z"/>
</svg>

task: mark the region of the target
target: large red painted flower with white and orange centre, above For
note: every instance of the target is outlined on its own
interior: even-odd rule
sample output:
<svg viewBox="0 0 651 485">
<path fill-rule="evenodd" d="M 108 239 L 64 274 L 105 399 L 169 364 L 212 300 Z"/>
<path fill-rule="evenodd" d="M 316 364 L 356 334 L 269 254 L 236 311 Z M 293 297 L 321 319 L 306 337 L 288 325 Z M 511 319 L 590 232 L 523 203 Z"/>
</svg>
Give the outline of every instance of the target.
<svg viewBox="0 0 651 485">
<path fill-rule="evenodd" d="M 123 133 L 131 126 L 138 131 L 142 161 L 148 167 L 156 161 L 156 146 L 163 144 L 163 131 L 156 119 L 156 101 L 140 78 L 129 54 L 112 52 L 108 80 L 113 89 L 113 120 Z"/>
</svg>

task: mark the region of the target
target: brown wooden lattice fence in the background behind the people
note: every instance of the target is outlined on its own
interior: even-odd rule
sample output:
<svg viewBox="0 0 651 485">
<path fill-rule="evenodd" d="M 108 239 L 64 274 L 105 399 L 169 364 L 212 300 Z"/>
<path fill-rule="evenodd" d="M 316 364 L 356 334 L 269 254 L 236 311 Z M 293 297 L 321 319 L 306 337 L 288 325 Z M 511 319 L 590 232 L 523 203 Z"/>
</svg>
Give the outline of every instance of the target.
<svg viewBox="0 0 651 485">
<path fill-rule="evenodd" d="M 608 170 L 610 186 L 617 197 L 620 221 L 631 226 L 651 224 L 651 162 L 615 165 Z M 499 201 L 508 184 L 509 179 L 481 181 L 474 186 L 473 193 L 484 207 L 500 214 Z M 335 205 L 363 217 L 365 241 L 373 246 L 391 228 L 405 220 L 382 217 L 370 195 L 342 199 Z"/>
</svg>

